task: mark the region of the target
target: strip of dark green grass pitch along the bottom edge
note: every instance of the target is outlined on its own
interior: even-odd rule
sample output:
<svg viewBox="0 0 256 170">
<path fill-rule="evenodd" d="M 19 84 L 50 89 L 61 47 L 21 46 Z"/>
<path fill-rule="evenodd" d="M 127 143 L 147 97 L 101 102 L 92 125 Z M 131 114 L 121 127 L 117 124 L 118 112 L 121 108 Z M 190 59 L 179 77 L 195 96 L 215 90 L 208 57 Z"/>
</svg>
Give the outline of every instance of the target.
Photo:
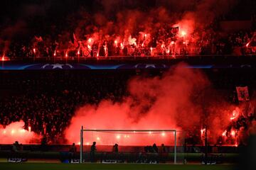
<svg viewBox="0 0 256 170">
<path fill-rule="evenodd" d="M 231 170 L 231 165 L 0 163 L 1 170 Z"/>
</svg>

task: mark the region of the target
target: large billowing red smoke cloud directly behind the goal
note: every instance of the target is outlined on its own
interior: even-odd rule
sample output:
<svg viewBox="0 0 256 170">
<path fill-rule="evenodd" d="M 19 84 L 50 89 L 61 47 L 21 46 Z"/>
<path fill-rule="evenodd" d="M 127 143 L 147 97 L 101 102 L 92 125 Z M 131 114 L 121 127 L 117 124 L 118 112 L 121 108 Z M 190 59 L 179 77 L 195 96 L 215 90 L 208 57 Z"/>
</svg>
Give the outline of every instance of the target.
<svg viewBox="0 0 256 170">
<path fill-rule="evenodd" d="M 162 77 L 134 77 L 129 81 L 129 96 L 120 102 L 104 100 L 97 106 L 79 108 L 65 131 L 65 137 L 69 142 L 80 142 L 79 130 L 82 125 L 85 129 L 183 131 L 195 127 L 200 130 L 203 125 L 208 125 L 215 142 L 228 125 L 228 115 L 220 109 L 220 103 L 223 106 L 224 102 L 217 100 L 216 95 L 208 96 L 214 91 L 205 75 L 199 70 L 184 67 L 180 64 Z M 149 145 L 150 142 L 163 142 L 160 137 L 145 138 L 139 135 L 129 140 L 110 135 L 99 137 L 85 133 L 85 136 L 85 142 L 95 140 L 100 144 L 119 142 L 120 145 Z"/>
</svg>

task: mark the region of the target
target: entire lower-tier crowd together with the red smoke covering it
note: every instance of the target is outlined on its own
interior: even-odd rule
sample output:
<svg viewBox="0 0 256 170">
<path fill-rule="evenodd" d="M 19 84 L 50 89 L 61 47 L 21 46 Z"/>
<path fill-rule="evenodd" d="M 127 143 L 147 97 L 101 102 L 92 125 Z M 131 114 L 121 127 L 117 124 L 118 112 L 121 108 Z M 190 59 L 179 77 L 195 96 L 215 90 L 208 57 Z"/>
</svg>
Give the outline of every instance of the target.
<svg viewBox="0 0 256 170">
<path fill-rule="evenodd" d="M 7 73 L 7 78 L 2 74 L 1 84 L 10 91 L 1 98 L 0 136 L 12 143 L 20 138 L 18 134 L 27 132 L 24 143 L 40 143 L 42 137 L 48 143 L 78 143 L 81 125 L 92 129 L 174 128 L 185 133 L 188 144 L 196 145 L 203 144 L 201 130 L 207 125 L 211 144 L 246 142 L 255 129 L 255 112 L 251 106 L 238 106 L 232 89 L 244 83 L 253 86 L 255 75 L 205 74 L 184 67 L 180 64 L 169 72 L 147 76 L 136 72 L 50 72 L 46 76 L 37 72 Z M 12 126 L 15 122 L 20 123 Z M 134 143 L 143 144 L 139 137 L 122 144 Z"/>
</svg>

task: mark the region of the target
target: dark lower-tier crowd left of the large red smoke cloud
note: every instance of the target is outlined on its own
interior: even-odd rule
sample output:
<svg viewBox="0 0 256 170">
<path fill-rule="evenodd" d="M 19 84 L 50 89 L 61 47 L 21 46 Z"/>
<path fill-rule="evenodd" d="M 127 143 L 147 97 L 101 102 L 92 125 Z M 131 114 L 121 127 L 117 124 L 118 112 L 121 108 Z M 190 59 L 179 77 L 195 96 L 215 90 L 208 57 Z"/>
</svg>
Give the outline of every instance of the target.
<svg viewBox="0 0 256 170">
<path fill-rule="evenodd" d="M 122 74 L 85 74 L 79 79 L 75 74 L 38 78 L 36 75 L 13 76 L 16 79 L 11 84 L 1 82 L 2 88 L 6 84 L 8 87 L 5 88 L 16 92 L 1 96 L 0 124 L 5 126 L 23 120 L 26 130 L 31 127 L 33 132 L 46 137 L 48 143 L 65 142 L 63 132 L 80 106 L 97 104 L 103 98 L 120 100 L 126 93 L 125 83 L 129 77 Z M 21 89 L 16 87 L 17 84 Z"/>
</svg>

